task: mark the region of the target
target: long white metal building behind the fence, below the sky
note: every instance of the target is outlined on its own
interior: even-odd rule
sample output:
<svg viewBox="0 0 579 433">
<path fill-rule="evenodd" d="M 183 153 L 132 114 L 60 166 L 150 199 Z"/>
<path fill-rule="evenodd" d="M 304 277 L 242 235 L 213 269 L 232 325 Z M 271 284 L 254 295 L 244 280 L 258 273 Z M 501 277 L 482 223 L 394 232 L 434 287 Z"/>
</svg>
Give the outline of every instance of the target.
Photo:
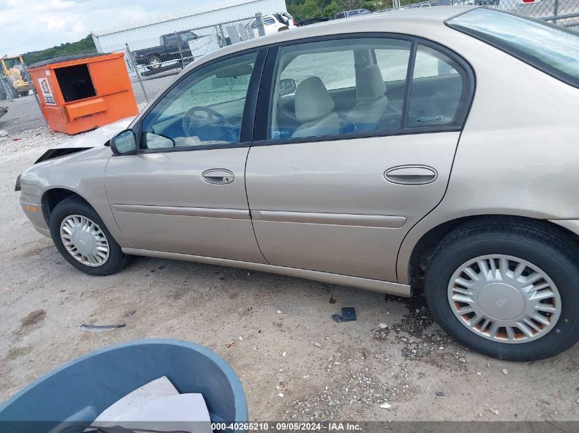
<svg viewBox="0 0 579 433">
<path fill-rule="evenodd" d="M 285 0 L 229 0 L 193 10 L 175 12 L 167 16 L 93 30 L 90 34 L 93 36 L 99 53 L 123 51 L 125 43 L 131 50 L 138 50 L 158 45 L 160 36 L 164 34 L 250 18 L 257 12 L 264 15 L 286 12 L 286 2 Z"/>
</svg>

